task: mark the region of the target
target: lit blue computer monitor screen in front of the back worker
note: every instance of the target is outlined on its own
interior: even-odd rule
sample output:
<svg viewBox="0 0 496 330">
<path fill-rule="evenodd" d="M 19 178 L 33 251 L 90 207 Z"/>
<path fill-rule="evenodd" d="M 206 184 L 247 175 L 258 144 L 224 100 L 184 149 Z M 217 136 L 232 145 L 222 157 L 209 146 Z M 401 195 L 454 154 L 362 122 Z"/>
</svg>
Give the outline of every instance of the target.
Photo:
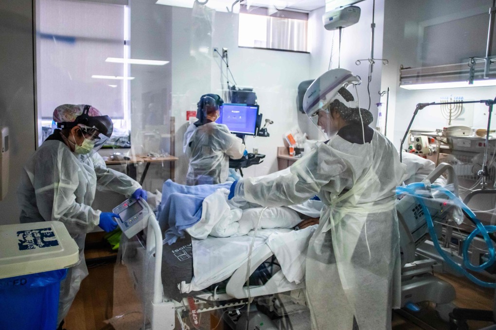
<svg viewBox="0 0 496 330">
<path fill-rule="evenodd" d="M 258 105 L 224 103 L 217 123 L 226 125 L 231 133 L 255 135 Z"/>
</svg>

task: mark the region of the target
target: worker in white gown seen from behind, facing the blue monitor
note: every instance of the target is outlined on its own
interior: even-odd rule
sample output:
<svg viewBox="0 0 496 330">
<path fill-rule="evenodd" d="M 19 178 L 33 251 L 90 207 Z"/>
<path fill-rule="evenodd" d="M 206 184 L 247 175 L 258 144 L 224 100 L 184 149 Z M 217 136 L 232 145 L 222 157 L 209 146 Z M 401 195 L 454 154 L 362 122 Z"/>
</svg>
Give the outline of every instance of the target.
<svg viewBox="0 0 496 330">
<path fill-rule="evenodd" d="M 224 100 L 217 94 L 202 95 L 196 118 L 185 133 L 184 151 L 189 154 L 186 184 L 215 185 L 227 181 L 229 158 L 240 159 L 246 153 L 243 141 L 231 134 L 226 125 L 215 121 Z"/>
</svg>

